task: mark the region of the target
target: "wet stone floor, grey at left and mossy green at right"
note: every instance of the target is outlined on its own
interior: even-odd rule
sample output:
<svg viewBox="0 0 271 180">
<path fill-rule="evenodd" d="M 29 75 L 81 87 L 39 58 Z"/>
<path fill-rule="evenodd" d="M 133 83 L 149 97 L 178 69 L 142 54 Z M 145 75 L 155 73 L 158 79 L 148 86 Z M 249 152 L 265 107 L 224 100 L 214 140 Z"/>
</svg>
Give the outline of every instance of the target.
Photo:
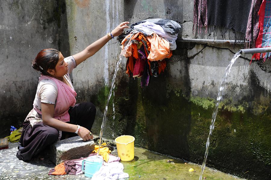
<svg viewBox="0 0 271 180">
<path fill-rule="evenodd" d="M 47 180 L 65 179 L 81 180 L 91 179 L 81 175 L 48 175 L 51 168 L 55 167 L 50 160 L 33 160 L 25 163 L 16 157 L 17 143 L 9 143 L 8 149 L 0 150 L 0 179 L 2 180 Z M 117 150 L 111 154 L 117 156 Z M 146 149 L 135 148 L 135 159 L 130 162 L 122 162 L 124 172 L 132 179 L 160 179 L 160 180 L 198 180 L 201 166 L 193 163 L 185 163 L 182 160 L 172 159 L 161 154 L 155 154 Z M 188 172 L 193 168 L 194 172 Z M 214 169 L 205 168 L 203 177 L 206 180 L 245 180 L 219 172 Z"/>
</svg>

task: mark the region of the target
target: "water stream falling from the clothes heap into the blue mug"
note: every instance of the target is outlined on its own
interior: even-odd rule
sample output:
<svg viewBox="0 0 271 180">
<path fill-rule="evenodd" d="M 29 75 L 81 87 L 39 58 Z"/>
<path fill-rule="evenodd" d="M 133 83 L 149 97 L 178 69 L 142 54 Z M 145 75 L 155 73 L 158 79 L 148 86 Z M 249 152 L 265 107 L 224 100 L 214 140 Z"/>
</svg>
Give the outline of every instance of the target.
<svg viewBox="0 0 271 180">
<path fill-rule="evenodd" d="M 115 69 L 115 72 L 114 72 L 114 75 L 113 75 L 113 78 L 112 78 L 112 83 L 111 83 L 111 88 L 110 88 L 110 91 L 109 91 L 109 94 L 108 94 L 108 99 L 107 99 L 107 102 L 106 102 L 106 105 L 105 105 L 105 110 L 104 110 L 104 117 L 103 117 L 103 122 L 102 122 L 102 125 L 101 125 L 101 131 L 100 131 L 100 140 L 99 140 L 99 148 L 98 148 L 98 152 L 97 152 L 97 158 L 98 158 L 98 154 L 99 154 L 99 151 L 100 151 L 100 147 L 101 147 L 101 138 L 103 136 L 103 129 L 104 129 L 104 124 L 105 124 L 105 120 L 106 120 L 106 114 L 107 114 L 107 108 L 108 108 L 108 103 L 109 103 L 109 100 L 111 98 L 111 95 L 112 95 L 112 90 L 113 90 L 113 87 L 114 87 L 114 83 L 115 83 L 115 79 L 116 79 L 116 76 L 117 76 L 117 72 L 119 70 L 119 66 L 120 66 L 120 63 L 121 63 L 121 60 L 126 58 L 125 56 L 123 56 L 123 54 L 126 52 L 127 48 L 132 44 L 132 42 L 128 42 L 127 45 L 123 48 L 122 52 L 120 53 L 120 59 L 118 60 L 117 62 L 117 65 L 116 65 L 116 69 Z"/>
</svg>

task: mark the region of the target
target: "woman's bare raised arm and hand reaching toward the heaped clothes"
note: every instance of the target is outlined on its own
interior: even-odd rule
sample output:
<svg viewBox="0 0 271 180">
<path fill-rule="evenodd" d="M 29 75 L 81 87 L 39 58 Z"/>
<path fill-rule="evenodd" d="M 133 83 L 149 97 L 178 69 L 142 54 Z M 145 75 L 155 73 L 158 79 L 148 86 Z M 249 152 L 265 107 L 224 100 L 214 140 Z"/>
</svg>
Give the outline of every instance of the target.
<svg viewBox="0 0 271 180">
<path fill-rule="evenodd" d="M 123 32 L 123 29 L 129 28 L 127 26 L 129 22 L 123 22 L 120 23 L 111 33 L 114 37 L 121 35 Z M 98 50 L 100 50 L 110 39 L 105 35 L 104 37 L 98 39 L 94 43 L 90 44 L 86 49 L 83 51 L 73 55 L 73 58 L 75 59 L 76 65 L 79 65 L 84 60 L 89 58 L 90 56 L 93 56 Z"/>
</svg>

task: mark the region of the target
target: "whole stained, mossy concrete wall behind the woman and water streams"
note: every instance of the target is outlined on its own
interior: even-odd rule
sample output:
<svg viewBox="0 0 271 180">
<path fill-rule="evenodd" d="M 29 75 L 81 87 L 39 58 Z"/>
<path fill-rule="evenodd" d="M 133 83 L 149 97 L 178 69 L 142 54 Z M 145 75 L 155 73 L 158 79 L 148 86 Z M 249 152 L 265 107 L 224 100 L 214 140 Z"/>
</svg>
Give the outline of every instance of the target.
<svg viewBox="0 0 271 180">
<path fill-rule="evenodd" d="M 8 14 L 5 19 L 0 17 L 0 42 L 1 47 L 4 46 L 0 49 L 0 71 L 5 77 L 1 78 L 0 85 L 1 102 L 5 102 L 1 103 L 0 119 L 7 125 L 5 128 L 13 125 L 11 122 L 18 125 L 31 109 L 39 74 L 31 68 L 30 62 L 45 47 L 60 48 L 64 56 L 69 56 L 122 21 L 135 23 L 157 17 L 180 23 L 179 37 L 209 38 L 192 33 L 193 1 L 188 0 L 28 3 L 8 1 L 0 6 L 1 11 Z M 53 19 L 55 12 L 59 16 Z M 221 79 L 229 61 L 241 48 L 240 45 L 178 41 L 166 71 L 151 78 L 149 86 L 144 88 L 140 87 L 140 79 L 125 75 L 124 60 L 117 75 L 115 96 L 109 105 L 104 136 L 114 139 L 129 134 L 135 136 L 137 146 L 201 164 Z M 92 130 L 95 134 L 100 131 L 108 85 L 119 53 L 120 47 L 113 39 L 73 71 L 77 102 L 91 101 L 97 107 Z M 207 166 L 248 179 L 268 179 L 271 62 L 249 65 L 249 58 L 250 55 L 238 58 L 229 74 Z M 7 130 L 2 132 L 7 133 Z"/>
</svg>

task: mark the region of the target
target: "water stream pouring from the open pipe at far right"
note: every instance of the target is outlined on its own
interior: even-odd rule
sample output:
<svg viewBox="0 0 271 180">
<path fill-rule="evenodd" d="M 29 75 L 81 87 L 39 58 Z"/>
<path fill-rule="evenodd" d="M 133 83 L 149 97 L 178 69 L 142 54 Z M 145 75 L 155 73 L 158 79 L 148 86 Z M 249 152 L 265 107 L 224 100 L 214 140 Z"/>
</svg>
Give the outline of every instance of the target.
<svg viewBox="0 0 271 180">
<path fill-rule="evenodd" d="M 202 163 L 202 166 L 201 166 L 201 175 L 200 175 L 200 178 L 199 180 L 202 179 L 202 174 L 203 174 L 203 171 L 204 171 L 204 168 L 205 168 L 205 164 L 206 164 L 206 160 L 207 160 L 207 156 L 208 156 L 208 147 L 210 145 L 210 138 L 212 136 L 212 132 L 213 132 L 213 129 L 214 129 L 214 122 L 216 121 L 216 114 L 217 114 L 217 110 L 218 110 L 218 106 L 219 106 L 219 103 L 220 103 L 220 100 L 222 98 L 222 92 L 224 90 L 224 87 L 226 85 L 226 80 L 227 80 L 227 77 L 231 71 L 231 68 L 232 68 L 232 65 L 234 64 L 235 60 L 241 56 L 242 52 L 241 51 L 238 51 L 232 58 L 230 64 L 228 65 L 228 67 L 226 68 L 226 73 L 224 75 L 224 77 L 222 78 L 222 81 L 221 81 L 221 85 L 220 85 L 220 89 L 219 89 L 219 92 L 218 92 L 218 96 L 216 98 L 216 105 L 215 105 L 215 108 L 214 108 L 214 111 L 213 111 L 213 116 L 212 116 L 212 123 L 210 125 L 210 133 L 209 133 L 209 136 L 208 136 L 208 139 L 207 139 L 207 142 L 206 142 L 206 151 L 205 151 L 205 155 L 204 155 L 204 160 L 203 160 L 203 163 Z"/>
</svg>

